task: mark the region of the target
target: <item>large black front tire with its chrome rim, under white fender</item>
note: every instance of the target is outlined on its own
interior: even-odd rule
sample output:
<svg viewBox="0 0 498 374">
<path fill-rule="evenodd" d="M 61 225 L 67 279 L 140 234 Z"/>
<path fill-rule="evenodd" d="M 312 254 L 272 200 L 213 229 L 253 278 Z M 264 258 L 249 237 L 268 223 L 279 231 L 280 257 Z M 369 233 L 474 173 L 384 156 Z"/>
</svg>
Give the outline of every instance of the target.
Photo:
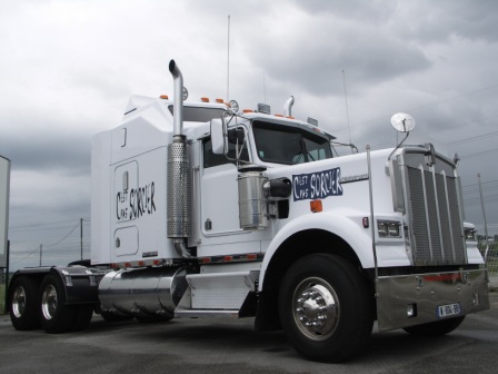
<svg viewBox="0 0 498 374">
<path fill-rule="evenodd" d="M 317 254 L 296 262 L 279 293 L 283 332 L 308 360 L 338 363 L 367 344 L 374 324 L 374 294 L 341 257 Z"/>
</svg>

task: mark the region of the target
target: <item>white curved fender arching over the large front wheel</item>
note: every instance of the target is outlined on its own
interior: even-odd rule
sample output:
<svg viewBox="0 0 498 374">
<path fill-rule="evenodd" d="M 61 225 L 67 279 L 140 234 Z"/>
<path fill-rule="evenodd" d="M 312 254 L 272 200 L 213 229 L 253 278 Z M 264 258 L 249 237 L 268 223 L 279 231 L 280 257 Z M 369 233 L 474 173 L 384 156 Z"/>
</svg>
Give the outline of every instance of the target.
<svg viewBox="0 0 498 374">
<path fill-rule="evenodd" d="M 296 233 L 307 229 L 322 229 L 341 237 L 356 252 L 363 268 L 374 267 L 371 229 L 362 227 L 362 217 L 365 217 L 365 213 L 356 211 L 351 214 L 351 210 L 346 213 L 343 209 L 338 209 L 335 211 L 307 214 L 285 225 L 266 250 L 259 274 L 259 291 L 262 289 L 268 265 L 281 244 Z"/>
</svg>

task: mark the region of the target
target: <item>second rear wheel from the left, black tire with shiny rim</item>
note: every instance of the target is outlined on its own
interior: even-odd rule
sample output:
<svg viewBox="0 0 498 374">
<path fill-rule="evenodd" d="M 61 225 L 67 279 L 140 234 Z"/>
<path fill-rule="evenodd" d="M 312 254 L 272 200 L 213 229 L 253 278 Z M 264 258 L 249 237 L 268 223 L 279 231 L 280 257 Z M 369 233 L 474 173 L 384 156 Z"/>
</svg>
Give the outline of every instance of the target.
<svg viewBox="0 0 498 374">
<path fill-rule="evenodd" d="M 41 327 L 49 334 L 67 333 L 76 322 L 74 306 L 64 305 L 66 293 L 62 279 L 56 274 L 44 276 L 40 287 Z"/>
</svg>

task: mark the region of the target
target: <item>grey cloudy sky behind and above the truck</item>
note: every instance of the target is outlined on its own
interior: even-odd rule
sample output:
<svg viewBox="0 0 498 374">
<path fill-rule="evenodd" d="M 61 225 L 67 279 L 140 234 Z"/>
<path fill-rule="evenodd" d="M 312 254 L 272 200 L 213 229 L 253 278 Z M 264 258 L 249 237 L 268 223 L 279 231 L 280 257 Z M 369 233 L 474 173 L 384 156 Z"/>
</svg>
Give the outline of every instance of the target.
<svg viewBox="0 0 498 374">
<path fill-rule="evenodd" d="M 90 217 L 90 138 L 130 95 L 266 101 L 360 150 L 407 142 L 461 156 L 467 219 L 498 223 L 498 1 L 0 0 L 0 155 L 12 161 L 10 239 L 59 240 Z M 346 110 L 345 82 L 349 112 Z M 89 227 L 89 226 L 88 226 Z M 78 234 L 76 230 L 73 234 Z M 73 235 L 71 234 L 71 235 Z"/>
</svg>

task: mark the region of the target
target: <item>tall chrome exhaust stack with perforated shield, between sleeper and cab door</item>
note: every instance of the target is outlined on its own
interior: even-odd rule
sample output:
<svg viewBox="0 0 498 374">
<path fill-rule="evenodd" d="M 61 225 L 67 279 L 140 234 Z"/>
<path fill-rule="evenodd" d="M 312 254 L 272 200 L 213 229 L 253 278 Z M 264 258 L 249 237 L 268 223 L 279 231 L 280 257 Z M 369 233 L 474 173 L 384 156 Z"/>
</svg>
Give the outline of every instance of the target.
<svg viewBox="0 0 498 374">
<path fill-rule="evenodd" d="M 183 130 L 183 77 L 175 60 L 169 62 L 173 76 L 173 139 L 168 145 L 168 237 L 181 257 L 191 257 L 185 238 L 190 236 L 189 145 Z"/>
</svg>

